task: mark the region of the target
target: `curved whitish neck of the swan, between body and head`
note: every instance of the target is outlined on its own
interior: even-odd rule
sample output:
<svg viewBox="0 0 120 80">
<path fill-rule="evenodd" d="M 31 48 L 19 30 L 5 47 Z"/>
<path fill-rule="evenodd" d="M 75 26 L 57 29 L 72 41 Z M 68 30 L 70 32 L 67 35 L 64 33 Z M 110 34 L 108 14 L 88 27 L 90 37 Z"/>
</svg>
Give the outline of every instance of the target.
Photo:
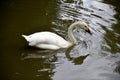
<svg viewBox="0 0 120 80">
<path fill-rule="evenodd" d="M 69 37 L 72 44 L 77 43 L 77 40 L 75 39 L 75 37 L 73 35 L 73 28 L 76 26 L 80 26 L 80 22 L 75 22 L 72 25 L 70 25 L 70 27 L 68 28 L 68 37 Z"/>
</svg>

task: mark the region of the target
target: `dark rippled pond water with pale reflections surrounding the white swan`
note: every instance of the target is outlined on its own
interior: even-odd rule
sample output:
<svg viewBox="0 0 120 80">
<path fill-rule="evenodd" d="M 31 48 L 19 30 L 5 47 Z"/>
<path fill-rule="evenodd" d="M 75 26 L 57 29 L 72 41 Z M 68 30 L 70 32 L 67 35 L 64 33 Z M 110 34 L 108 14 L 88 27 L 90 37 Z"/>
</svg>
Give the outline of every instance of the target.
<svg viewBox="0 0 120 80">
<path fill-rule="evenodd" d="M 120 80 L 119 0 L 4 0 L 1 2 L 1 80 Z M 52 31 L 68 39 L 75 21 L 78 44 L 58 51 L 27 46 L 22 34 Z"/>
</svg>

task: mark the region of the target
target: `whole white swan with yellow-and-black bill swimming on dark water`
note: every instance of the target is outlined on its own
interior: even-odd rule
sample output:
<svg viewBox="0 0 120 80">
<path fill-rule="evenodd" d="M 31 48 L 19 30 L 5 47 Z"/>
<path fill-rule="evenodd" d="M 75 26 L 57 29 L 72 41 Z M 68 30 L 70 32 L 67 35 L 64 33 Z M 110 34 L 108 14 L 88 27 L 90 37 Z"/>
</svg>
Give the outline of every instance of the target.
<svg viewBox="0 0 120 80">
<path fill-rule="evenodd" d="M 41 48 L 41 49 L 49 49 L 49 50 L 57 50 L 60 48 L 69 48 L 72 45 L 77 43 L 77 40 L 75 39 L 72 30 L 74 27 L 80 27 L 81 29 L 84 29 L 86 32 L 92 34 L 89 30 L 89 27 L 87 23 L 82 22 L 82 21 L 77 21 L 71 24 L 68 28 L 68 37 L 70 41 L 66 41 L 64 38 L 61 36 L 49 32 L 49 31 L 44 31 L 44 32 L 36 32 L 31 35 L 22 35 L 28 42 L 29 46 L 33 46 L 36 48 Z"/>
</svg>

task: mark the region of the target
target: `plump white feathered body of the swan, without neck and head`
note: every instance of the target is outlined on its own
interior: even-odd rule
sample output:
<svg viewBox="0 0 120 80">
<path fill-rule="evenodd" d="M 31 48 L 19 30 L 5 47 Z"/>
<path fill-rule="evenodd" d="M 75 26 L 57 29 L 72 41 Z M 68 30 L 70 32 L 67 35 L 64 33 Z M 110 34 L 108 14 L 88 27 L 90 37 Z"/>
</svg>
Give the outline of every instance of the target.
<svg viewBox="0 0 120 80">
<path fill-rule="evenodd" d="M 29 36 L 22 35 L 28 42 L 30 46 L 38 46 L 41 47 L 43 44 L 48 47 L 52 47 L 54 45 L 57 47 L 65 48 L 69 45 L 69 42 L 64 40 L 59 35 L 52 32 L 38 32 L 31 34 Z"/>
</svg>

